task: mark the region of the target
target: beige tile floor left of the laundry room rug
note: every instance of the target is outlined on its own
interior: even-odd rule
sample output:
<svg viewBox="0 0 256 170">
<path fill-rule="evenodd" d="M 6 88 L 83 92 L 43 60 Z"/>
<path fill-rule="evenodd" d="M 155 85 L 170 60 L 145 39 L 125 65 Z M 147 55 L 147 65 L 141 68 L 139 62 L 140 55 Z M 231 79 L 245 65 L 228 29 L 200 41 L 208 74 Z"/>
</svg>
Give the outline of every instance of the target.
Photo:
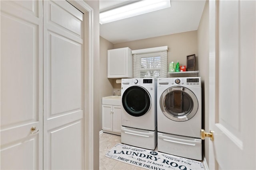
<svg viewBox="0 0 256 170">
<path fill-rule="evenodd" d="M 109 133 L 100 134 L 100 170 L 145 170 L 144 168 L 106 157 L 105 154 L 117 143 L 121 143 L 121 136 Z"/>
</svg>

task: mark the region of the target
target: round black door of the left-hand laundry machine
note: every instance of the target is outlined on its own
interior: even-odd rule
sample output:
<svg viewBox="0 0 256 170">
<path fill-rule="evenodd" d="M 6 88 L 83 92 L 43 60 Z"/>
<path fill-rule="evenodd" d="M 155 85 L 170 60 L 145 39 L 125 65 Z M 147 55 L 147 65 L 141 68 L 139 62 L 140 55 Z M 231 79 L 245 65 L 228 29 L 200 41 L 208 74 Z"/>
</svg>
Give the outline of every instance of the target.
<svg viewBox="0 0 256 170">
<path fill-rule="evenodd" d="M 143 87 L 131 86 L 122 95 L 122 105 L 128 114 L 136 117 L 142 116 L 150 109 L 150 95 Z"/>
</svg>

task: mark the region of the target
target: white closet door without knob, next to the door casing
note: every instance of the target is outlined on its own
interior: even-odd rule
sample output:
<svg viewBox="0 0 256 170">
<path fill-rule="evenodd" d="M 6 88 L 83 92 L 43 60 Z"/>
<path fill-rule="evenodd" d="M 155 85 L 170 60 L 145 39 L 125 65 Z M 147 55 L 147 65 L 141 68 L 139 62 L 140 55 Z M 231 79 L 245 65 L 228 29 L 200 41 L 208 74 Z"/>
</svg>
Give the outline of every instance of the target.
<svg viewBox="0 0 256 170">
<path fill-rule="evenodd" d="M 83 13 L 44 1 L 44 169 L 84 168 Z"/>
</svg>

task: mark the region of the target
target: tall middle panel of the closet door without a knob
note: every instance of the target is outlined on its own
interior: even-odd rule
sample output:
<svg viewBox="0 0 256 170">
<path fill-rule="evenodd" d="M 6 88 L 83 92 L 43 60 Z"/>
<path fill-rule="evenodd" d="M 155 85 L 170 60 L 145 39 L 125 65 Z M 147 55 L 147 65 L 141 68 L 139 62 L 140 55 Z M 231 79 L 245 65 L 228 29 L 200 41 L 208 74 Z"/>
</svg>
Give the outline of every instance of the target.
<svg viewBox="0 0 256 170">
<path fill-rule="evenodd" d="M 56 36 L 50 45 L 51 114 L 82 109 L 82 45 Z"/>
</svg>

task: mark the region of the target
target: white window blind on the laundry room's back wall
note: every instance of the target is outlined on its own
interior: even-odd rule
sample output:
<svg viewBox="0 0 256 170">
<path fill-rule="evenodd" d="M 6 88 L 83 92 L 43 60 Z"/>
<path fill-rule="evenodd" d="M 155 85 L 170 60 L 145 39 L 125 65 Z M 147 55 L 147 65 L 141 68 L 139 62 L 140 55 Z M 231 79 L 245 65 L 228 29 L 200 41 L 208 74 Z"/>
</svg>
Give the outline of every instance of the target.
<svg viewBox="0 0 256 170">
<path fill-rule="evenodd" d="M 167 77 L 167 46 L 134 50 L 132 53 L 134 78 Z"/>
</svg>

